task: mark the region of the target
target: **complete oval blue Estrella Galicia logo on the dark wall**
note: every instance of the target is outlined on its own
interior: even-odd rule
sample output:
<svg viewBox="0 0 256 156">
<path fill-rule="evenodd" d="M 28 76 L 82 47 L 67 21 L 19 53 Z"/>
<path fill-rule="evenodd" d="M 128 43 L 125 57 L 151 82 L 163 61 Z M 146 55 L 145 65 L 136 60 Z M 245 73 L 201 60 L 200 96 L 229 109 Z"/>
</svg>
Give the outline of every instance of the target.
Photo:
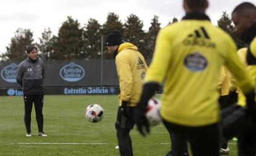
<svg viewBox="0 0 256 156">
<path fill-rule="evenodd" d="M 65 81 L 75 82 L 85 76 L 85 70 L 83 70 L 83 67 L 80 65 L 70 62 L 70 64 L 64 65 L 61 70 L 59 70 L 59 75 Z"/>
</svg>

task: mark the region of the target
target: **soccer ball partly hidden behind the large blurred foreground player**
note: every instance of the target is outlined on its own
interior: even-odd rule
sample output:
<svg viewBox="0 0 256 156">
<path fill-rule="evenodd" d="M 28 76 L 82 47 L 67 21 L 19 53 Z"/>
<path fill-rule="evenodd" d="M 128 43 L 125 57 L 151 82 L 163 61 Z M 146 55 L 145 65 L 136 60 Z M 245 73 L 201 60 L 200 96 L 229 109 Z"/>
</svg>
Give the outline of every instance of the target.
<svg viewBox="0 0 256 156">
<path fill-rule="evenodd" d="M 150 126 L 158 125 L 158 123 L 161 122 L 160 105 L 160 99 L 151 98 L 148 101 L 146 117 L 148 119 L 148 123 L 150 124 Z"/>
</svg>

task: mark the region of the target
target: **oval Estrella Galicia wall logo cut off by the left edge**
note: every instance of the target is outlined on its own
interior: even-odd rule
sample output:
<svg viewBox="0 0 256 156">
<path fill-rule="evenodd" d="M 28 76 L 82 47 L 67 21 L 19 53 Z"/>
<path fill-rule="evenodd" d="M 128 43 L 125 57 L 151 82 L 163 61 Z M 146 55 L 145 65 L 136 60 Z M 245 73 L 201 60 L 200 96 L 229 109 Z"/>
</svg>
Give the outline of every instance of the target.
<svg viewBox="0 0 256 156">
<path fill-rule="evenodd" d="M 1 77 L 4 81 L 9 83 L 16 83 L 16 70 L 18 65 L 12 63 L 7 65 L 6 67 L 2 68 L 1 70 Z"/>
</svg>

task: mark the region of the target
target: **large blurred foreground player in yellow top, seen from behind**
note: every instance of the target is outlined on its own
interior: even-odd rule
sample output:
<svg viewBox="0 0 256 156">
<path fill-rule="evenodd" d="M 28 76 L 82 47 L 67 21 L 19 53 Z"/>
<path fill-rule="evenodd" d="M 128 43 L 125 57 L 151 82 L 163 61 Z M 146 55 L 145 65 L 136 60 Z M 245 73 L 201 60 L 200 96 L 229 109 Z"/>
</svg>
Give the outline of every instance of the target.
<svg viewBox="0 0 256 156">
<path fill-rule="evenodd" d="M 211 24 L 207 0 L 184 0 L 186 16 L 158 33 L 155 53 L 135 109 L 140 133 L 149 132 L 145 111 L 148 99 L 165 79 L 161 117 L 171 136 L 172 153 L 180 156 L 189 140 L 194 156 L 219 155 L 218 91 L 220 68 L 225 65 L 246 96 L 254 81 L 236 55 L 233 39 Z M 210 142 L 209 142 L 210 141 Z"/>
</svg>

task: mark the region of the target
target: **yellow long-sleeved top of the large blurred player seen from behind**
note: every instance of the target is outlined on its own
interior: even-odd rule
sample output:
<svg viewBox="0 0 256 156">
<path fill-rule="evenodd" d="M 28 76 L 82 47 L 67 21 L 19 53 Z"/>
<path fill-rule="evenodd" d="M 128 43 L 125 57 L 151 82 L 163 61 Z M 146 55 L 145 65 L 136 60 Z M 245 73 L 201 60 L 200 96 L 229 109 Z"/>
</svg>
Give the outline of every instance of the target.
<svg viewBox="0 0 256 156">
<path fill-rule="evenodd" d="M 235 54 L 233 39 L 208 17 L 190 17 L 160 30 L 145 81 L 161 84 L 165 80 L 160 109 L 164 120 L 210 125 L 220 119 L 216 84 L 221 65 L 236 76 L 244 92 L 254 88 L 254 81 Z"/>
</svg>

